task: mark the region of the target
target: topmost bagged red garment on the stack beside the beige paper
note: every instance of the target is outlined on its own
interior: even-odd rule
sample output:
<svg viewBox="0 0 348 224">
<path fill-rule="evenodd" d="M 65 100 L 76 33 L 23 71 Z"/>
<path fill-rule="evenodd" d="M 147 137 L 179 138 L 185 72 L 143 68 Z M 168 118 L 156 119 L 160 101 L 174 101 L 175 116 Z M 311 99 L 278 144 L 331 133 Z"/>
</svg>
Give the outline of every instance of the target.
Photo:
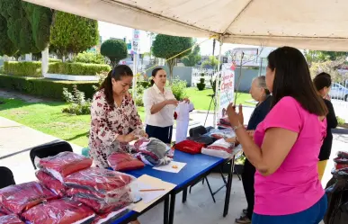
<svg viewBox="0 0 348 224">
<path fill-rule="evenodd" d="M 117 192 L 131 184 L 136 178 L 108 169 L 90 167 L 72 175 L 68 175 L 64 182 L 70 188 L 86 188 L 99 193 Z"/>
</svg>

